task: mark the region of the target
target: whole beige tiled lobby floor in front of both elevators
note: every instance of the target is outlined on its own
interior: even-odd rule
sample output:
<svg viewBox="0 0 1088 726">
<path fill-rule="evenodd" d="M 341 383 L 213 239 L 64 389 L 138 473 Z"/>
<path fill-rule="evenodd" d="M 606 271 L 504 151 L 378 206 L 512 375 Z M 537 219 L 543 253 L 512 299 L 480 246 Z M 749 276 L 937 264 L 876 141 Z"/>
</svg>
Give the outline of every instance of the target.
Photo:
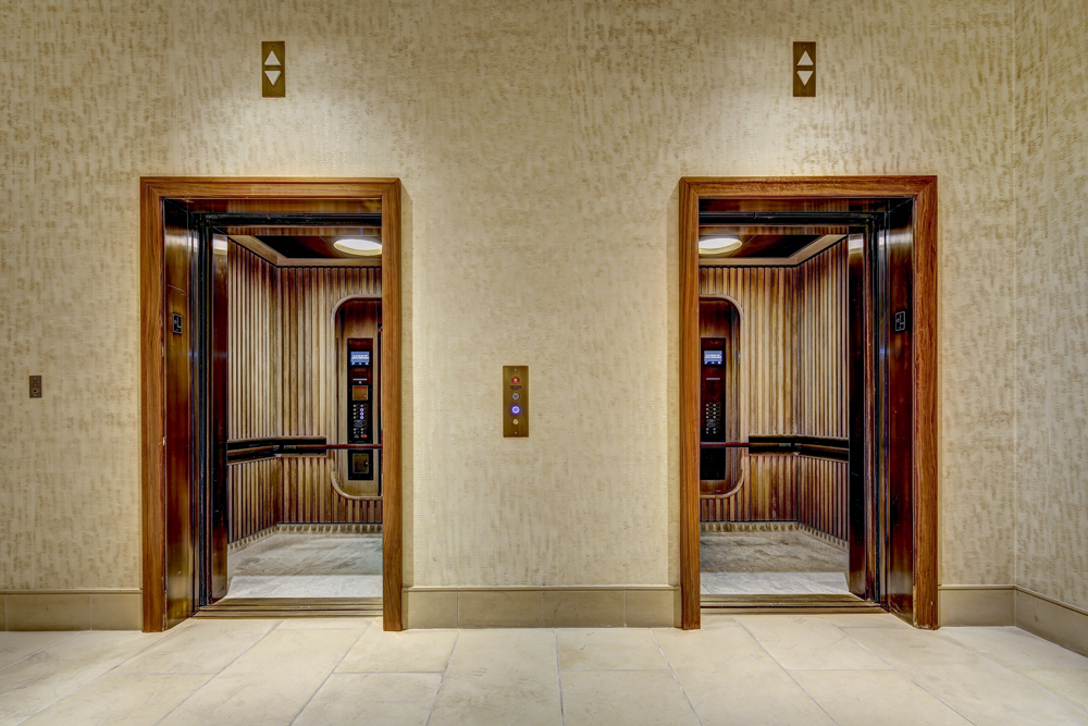
<svg viewBox="0 0 1088 726">
<path fill-rule="evenodd" d="M 8 724 L 1088 725 L 1088 659 L 1016 628 L 887 614 L 676 629 L 190 620 L 0 632 Z"/>
</svg>

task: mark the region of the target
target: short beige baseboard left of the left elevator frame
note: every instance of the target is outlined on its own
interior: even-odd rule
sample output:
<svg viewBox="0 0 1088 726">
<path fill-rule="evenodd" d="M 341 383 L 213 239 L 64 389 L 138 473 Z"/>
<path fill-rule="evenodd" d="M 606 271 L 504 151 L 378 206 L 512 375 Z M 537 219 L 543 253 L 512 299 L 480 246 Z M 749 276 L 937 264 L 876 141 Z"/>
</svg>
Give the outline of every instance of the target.
<svg viewBox="0 0 1088 726">
<path fill-rule="evenodd" d="M 139 590 L 0 591 L 0 630 L 139 630 Z"/>
</svg>

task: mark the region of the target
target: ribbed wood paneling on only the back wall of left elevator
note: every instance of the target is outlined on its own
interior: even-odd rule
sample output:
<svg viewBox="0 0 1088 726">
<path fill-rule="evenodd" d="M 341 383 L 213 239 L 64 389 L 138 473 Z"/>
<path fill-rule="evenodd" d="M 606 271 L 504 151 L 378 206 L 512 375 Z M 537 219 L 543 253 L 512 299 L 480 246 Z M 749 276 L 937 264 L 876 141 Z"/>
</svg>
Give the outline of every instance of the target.
<svg viewBox="0 0 1088 726">
<path fill-rule="evenodd" d="M 282 268 L 282 397 L 285 436 L 335 441 L 333 310 L 351 296 L 380 297 L 380 268 Z M 349 500 L 333 488 L 332 455 L 284 457 L 283 521 L 380 522 L 380 500 Z"/>
</svg>

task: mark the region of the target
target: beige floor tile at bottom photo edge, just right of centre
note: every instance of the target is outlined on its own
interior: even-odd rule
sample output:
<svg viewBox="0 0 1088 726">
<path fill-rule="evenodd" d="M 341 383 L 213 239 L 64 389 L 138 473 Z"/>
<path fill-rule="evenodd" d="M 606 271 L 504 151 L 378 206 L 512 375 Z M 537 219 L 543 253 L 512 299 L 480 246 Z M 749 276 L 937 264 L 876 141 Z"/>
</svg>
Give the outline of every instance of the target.
<svg viewBox="0 0 1088 726">
<path fill-rule="evenodd" d="M 668 670 L 565 670 L 561 684 L 565 726 L 698 726 Z"/>
</svg>

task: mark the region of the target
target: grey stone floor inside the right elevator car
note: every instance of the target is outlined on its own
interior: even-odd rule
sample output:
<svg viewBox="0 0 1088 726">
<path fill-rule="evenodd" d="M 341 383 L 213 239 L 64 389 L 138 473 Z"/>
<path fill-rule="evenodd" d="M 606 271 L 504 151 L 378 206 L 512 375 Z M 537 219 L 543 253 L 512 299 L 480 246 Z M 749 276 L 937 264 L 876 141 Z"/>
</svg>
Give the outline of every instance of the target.
<svg viewBox="0 0 1088 726">
<path fill-rule="evenodd" d="M 703 532 L 704 595 L 850 594 L 845 550 L 802 531 Z"/>
</svg>

